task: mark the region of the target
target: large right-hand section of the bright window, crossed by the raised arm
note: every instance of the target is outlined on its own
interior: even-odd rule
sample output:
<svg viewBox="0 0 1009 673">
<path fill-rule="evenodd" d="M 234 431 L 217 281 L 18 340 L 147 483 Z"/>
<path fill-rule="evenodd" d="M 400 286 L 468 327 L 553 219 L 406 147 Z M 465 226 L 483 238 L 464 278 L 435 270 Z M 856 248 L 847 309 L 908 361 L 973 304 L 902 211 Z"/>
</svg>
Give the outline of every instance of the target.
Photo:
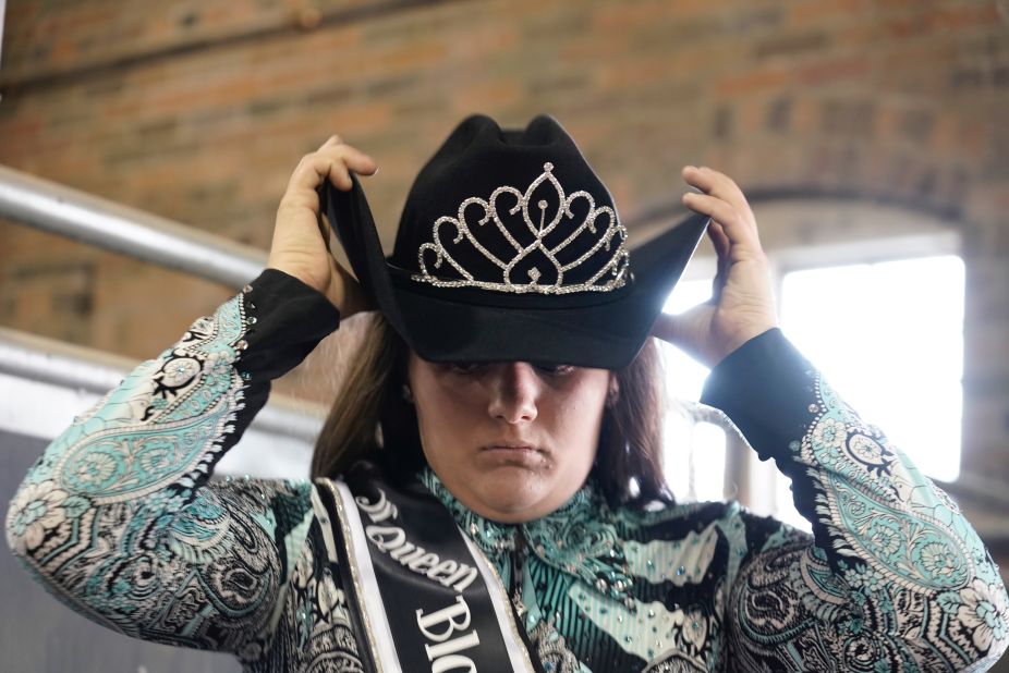
<svg viewBox="0 0 1009 673">
<path fill-rule="evenodd" d="M 963 260 L 955 255 L 797 270 L 781 279 L 781 328 L 863 420 L 923 473 L 960 474 Z M 809 528 L 789 480 L 776 516 Z"/>
</svg>

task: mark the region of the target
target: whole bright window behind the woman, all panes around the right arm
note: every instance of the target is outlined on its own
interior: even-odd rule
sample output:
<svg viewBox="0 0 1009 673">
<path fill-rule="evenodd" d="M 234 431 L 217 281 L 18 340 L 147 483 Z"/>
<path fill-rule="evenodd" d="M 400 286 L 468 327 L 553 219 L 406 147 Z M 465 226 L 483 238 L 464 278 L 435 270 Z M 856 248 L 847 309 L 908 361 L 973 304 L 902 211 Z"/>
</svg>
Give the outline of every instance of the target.
<svg viewBox="0 0 1009 673">
<path fill-rule="evenodd" d="M 955 255 L 928 255 L 815 268 L 781 265 L 778 270 L 781 327 L 789 339 L 926 475 L 956 479 L 963 261 Z M 680 313 L 709 296 L 709 280 L 682 281 L 666 310 Z M 708 370 L 672 346 L 664 345 L 662 353 L 671 396 L 697 400 Z M 677 415 L 667 426 L 666 472 L 677 497 L 722 498 L 727 440 L 721 428 Z M 809 529 L 794 510 L 788 479 L 752 453 L 747 460 L 749 492 L 755 500 L 747 504 Z"/>
</svg>

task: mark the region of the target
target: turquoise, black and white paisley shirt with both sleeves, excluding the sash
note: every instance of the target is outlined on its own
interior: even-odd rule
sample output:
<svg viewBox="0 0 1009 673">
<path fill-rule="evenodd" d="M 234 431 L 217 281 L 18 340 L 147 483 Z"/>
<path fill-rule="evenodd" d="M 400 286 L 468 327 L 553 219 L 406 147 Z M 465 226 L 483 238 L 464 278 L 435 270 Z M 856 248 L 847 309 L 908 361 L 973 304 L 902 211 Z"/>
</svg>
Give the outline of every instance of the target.
<svg viewBox="0 0 1009 673">
<path fill-rule="evenodd" d="M 362 671 L 309 481 L 210 481 L 270 380 L 336 329 L 267 270 L 74 419 L 11 502 L 7 539 L 64 603 L 250 672 Z M 502 525 L 421 480 L 513 594 L 548 672 L 981 671 L 1006 589 L 957 505 L 777 330 L 712 372 L 720 408 L 792 478 L 813 535 L 736 503 L 610 509 L 592 481 Z"/>
</svg>

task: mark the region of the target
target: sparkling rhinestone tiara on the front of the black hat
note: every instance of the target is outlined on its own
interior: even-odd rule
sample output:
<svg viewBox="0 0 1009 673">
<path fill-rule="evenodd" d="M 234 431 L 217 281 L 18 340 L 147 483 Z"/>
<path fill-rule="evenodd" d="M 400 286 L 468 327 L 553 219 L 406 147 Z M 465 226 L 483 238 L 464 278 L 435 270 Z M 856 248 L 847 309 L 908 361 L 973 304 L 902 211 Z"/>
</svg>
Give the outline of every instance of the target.
<svg viewBox="0 0 1009 673">
<path fill-rule="evenodd" d="M 417 265 L 420 268 L 420 273 L 414 273 L 411 276 L 411 279 L 423 283 L 429 283 L 437 287 L 479 287 L 482 290 L 511 292 L 518 294 L 609 292 L 611 290 L 622 287 L 627 282 L 628 267 L 630 265 L 630 253 L 627 250 L 625 246 L 628 232 L 623 224 L 617 220 L 617 213 L 609 206 L 600 206 L 596 208 L 595 199 L 588 192 L 578 191 L 569 196 L 566 196 L 563 187 L 554 175 L 554 164 L 547 162 L 544 164 L 543 169 L 544 172 L 533 181 L 533 183 L 525 189 L 524 193 L 520 192 L 515 187 L 500 186 L 495 188 L 490 194 L 490 198 L 486 200 L 478 196 L 473 196 L 463 200 L 459 205 L 459 212 L 457 217 L 452 218 L 445 216 L 438 218 L 438 220 L 435 221 L 434 228 L 431 230 L 431 237 L 434 241 L 430 243 L 424 243 L 417 250 Z M 530 211 L 532 195 L 544 182 L 549 183 L 557 191 L 559 207 L 557 209 L 557 213 L 554 215 L 549 221 L 547 221 L 548 203 L 546 199 L 539 199 L 535 204 L 536 208 L 538 209 L 536 218 L 538 219 L 538 222 L 535 222 Z M 511 195 L 516 199 L 515 205 L 508 208 L 507 212 L 512 216 L 519 212 L 522 213 L 522 220 L 525 222 L 525 225 L 528 228 L 530 233 L 534 237 L 533 243 L 524 246 L 520 244 L 508 231 L 504 222 L 499 217 L 497 203 L 498 199 L 506 194 Z M 579 223 L 576 227 L 571 227 L 571 233 L 560 243 L 552 247 L 547 246 L 544 243 L 545 237 L 554 232 L 555 229 L 561 227 L 562 220 L 566 219 L 564 216 L 567 216 L 567 220 L 574 219 L 575 216 L 571 210 L 571 206 L 578 199 L 585 199 L 588 205 L 588 213 L 585 216 L 584 221 Z M 473 206 L 478 206 L 483 209 L 483 217 L 471 224 L 466 221 L 466 213 L 467 209 Z M 606 229 L 603 231 L 601 235 L 599 235 L 597 228 L 600 225 L 599 220 L 604 216 Z M 511 259 L 498 258 L 481 243 L 481 238 L 484 238 L 487 235 L 489 228 L 487 228 L 486 224 L 490 221 L 494 221 L 497 231 L 500 232 L 508 244 L 514 248 L 514 255 L 511 257 Z M 494 281 L 489 281 L 477 280 L 474 278 L 473 273 L 467 271 L 451 255 L 451 253 L 446 249 L 445 245 L 442 245 L 441 231 L 445 227 L 454 229 L 454 234 L 451 235 L 453 245 L 459 245 L 465 240 L 473 247 L 473 249 L 489 260 L 494 266 L 499 268 L 501 270 L 500 282 L 498 282 L 496 279 Z M 558 260 L 558 255 L 572 242 L 582 236 L 586 230 L 589 232 L 589 234 L 586 235 L 595 234 L 598 238 L 595 241 L 592 247 L 580 255 L 576 259 L 567 264 L 561 264 L 561 261 Z M 592 259 L 600 249 L 604 252 L 604 259 L 601 261 Z M 546 260 L 554 266 L 554 270 L 557 274 L 557 280 L 555 282 L 540 284 L 538 281 L 544 277 L 544 271 L 536 266 L 526 270 L 528 282 L 523 282 L 525 279 L 516 280 L 512 278 L 512 271 L 515 269 L 515 267 L 524 259 L 530 257 L 530 255 L 536 253 L 536 250 L 542 252 L 546 257 Z M 455 271 L 462 278 L 450 279 L 438 277 L 431 273 L 428 270 L 427 259 L 425 259 L 425 257 L 429 258 L 431 253 L 434 253 L 434 269 L 440 269 L 443 264 L 447 264 L 455 269 Z M 606 257 L 605 253 L 611 254 Z M 595 272 L 592 272 L 592 267 L 589 267 L 589 269 L 581 268 L 586 264 L 591 264 L 593 267 L 597 264 L 599 266 Z M 582 272 L 592 272 L 592 276 L 583 282 L 566 285 L 563 283 L 564 274 L 572 271 L 573 269 L 579 269 L 579 271 Z"/>
</svg>

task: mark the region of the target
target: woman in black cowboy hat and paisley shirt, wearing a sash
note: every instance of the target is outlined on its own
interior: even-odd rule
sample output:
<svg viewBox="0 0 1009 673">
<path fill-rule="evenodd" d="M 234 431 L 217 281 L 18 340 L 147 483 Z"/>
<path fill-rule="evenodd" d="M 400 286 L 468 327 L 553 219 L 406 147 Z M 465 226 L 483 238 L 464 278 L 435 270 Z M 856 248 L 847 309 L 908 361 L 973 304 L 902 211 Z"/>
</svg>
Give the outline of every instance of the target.
<svg viewBox="0 0 1009 673">
<path fill-rule="evenodd" d="M 715 299 L 673 320 L 661 298 L 704 223 L 628 252 L 609 194 L 549 118 L 524 131 L 465 120 L 421 171 L 389 260 L 354 176 L 376 170 L 337 136 L 307 155 L 263 276 L 32 468 L 8 540 L 58 597 L 129 635 L 234 652 L 247 671 L 998 659 L 997 568 L 956 505 L 776 329 L 729 178 L 683 171 L 719 272 Z M 364 287 L 329 256 L 320 210 Z M 381 317 L 316 481 L 209 482 L 269 381 L 373 302 Z M 812 537 L 734 503 L 671 501 L 649 330 L 714 367 L 705 402 L 792 478 Z"/>
</svg>

